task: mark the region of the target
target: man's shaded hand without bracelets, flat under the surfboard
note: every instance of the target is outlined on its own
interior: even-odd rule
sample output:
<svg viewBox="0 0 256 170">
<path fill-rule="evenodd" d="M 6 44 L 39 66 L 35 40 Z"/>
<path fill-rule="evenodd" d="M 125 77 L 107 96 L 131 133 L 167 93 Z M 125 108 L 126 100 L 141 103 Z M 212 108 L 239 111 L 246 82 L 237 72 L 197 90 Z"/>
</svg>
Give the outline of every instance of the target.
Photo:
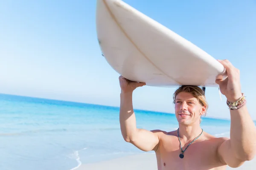
<svg viewBox="0 0 256 170">
<path fill-rule="evenodd" d="M 123 93 L 132 93 L 137 87 L 142 87 L 143 85 L 146 85 L 146 83 L 144 82 L 132 82 L 122 76 L 119 77 L 119 82 L 121 91 Z"/>
</svg>

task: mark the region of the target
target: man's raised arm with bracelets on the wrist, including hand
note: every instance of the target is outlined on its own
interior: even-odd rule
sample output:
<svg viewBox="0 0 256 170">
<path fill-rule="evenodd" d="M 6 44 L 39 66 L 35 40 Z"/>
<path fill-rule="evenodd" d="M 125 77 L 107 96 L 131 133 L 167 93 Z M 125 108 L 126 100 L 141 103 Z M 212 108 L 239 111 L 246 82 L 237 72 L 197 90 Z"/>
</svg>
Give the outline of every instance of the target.
<svg viewBox="0 0 256 170">
<path fill-rule="evenodd" d="M 230 139 L 218 147 L 220 159 L 230 167 L 239 167 L 244 161 L 252 160 L 256 154 L 256 128 L 247 111 L 246 99 L 241 93 L 240 73 L 229 61 L 220 60 L 227 70 L 228 78 L 217 80 L 221 93 L 228 102 L 240 101 L 236 107 L 230 108 Z"/>
</svg>

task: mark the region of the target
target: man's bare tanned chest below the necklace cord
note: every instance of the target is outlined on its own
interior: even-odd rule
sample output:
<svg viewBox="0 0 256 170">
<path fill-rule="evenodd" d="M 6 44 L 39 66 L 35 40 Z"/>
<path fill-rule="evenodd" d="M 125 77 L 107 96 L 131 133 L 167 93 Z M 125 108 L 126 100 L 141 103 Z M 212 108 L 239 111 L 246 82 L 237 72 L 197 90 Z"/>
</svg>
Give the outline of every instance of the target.
<svg viewBox="0 0 256 170">
<path fill-rule="evenodd" d="M 217 148 L 206 140 L 198 140 L 187 147 L 180 158 L 180 143 L 175 136 L 162 140 L 157 150 L 158 170 L 221 170 L 224 167 L 217 159 Z"/>
</svg>

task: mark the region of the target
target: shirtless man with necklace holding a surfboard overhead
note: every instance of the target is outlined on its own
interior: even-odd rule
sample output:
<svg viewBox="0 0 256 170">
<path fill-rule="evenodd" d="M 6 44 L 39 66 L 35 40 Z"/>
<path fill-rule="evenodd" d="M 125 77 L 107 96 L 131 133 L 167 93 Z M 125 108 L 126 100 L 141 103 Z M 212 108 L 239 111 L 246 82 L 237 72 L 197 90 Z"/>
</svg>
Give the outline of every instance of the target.
<svg viewBox="0 0 256 170">
<path fill-rule="evenodd" d="M 119 77 L 122 136 L 140 150 L 154 150 L 158 170 L 224 170 L 227 165 L 239 167 L 255 156 L 256 128 L 247 111 L 246 100 L 241 98 L 239 70 L 228 60 L 218 61 L 224 65 L 228 75 L 224 81 L 216 80 L 221 93 L 229 102 L 240 101 L 239 105 L 230 108 L 230 139 L 216 138 L 201 129 L 201 116 L 206 113 L 208 105 L 204 91 L 197 86 L 181 86 L 174 94 L 178 130 L 138 129 L 132 93 L 145 83 Z"/>
</svg>

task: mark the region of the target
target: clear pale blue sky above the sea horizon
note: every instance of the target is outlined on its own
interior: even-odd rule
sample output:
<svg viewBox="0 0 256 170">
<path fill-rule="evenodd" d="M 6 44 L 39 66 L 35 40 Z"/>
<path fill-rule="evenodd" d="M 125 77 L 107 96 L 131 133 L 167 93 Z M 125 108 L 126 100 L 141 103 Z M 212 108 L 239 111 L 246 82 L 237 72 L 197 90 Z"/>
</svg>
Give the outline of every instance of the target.
<svg viewBox="0 0 256 170">
<path fill-rule="evenodd" d="M 229 59 L 256 119 L 255 0 L 124 1 L 215 59 Z M 101 55 L 95 14 L 96 0 L 1 1 L 0 93 L 119 106 L 119 74 Z M 173 113 L 174 91 L 138 88 L 134 108 Z M 208 117 L 230 118 L 218 88 L 206 96 Z"/>
</svg>

